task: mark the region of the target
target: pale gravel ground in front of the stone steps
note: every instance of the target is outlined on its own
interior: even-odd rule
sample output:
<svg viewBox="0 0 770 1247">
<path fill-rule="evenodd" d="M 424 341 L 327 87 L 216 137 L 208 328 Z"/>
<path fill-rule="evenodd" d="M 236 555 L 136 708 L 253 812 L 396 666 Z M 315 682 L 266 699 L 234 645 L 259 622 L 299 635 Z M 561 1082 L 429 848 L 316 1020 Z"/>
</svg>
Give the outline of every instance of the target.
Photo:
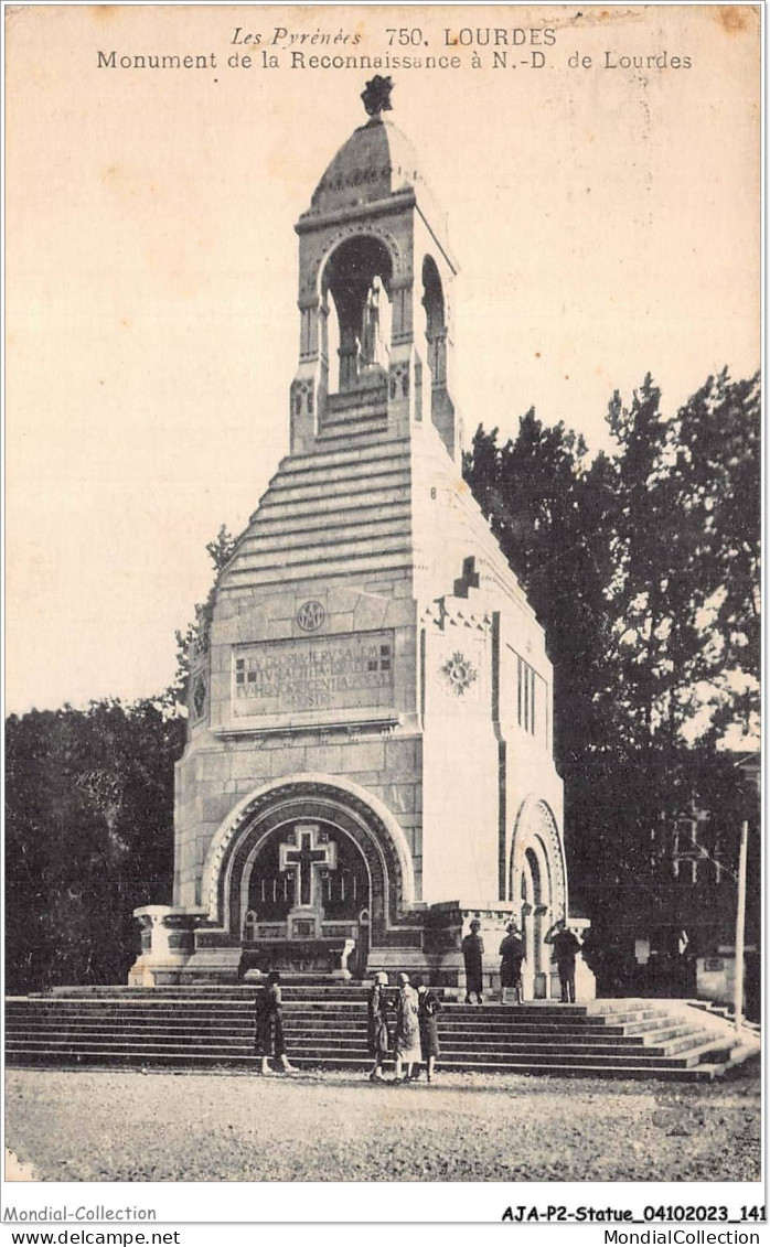
<svg viewBox="0 0 770 1247">
<path fill-rule="evenodd" d="M 716 1084 L 9 1070 L 5 1112 L 44 1181 L 760 1178 L 756 1061 Z"/>
</svg>

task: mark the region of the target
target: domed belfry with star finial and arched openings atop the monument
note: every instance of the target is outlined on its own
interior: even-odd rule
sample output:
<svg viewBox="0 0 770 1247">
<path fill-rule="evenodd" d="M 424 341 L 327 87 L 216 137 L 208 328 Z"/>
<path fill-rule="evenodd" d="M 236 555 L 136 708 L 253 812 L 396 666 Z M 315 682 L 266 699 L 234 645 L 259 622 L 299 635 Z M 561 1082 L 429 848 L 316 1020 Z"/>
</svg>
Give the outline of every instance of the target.
<svg viewBox="0 0 770 1247">
<path fill-rule="evenodd" d="M 383 112 L 391 79 L 362 100 L 369 120 L 321 178 L 300 236 L 300 365 L 292 450 L 334 436 L 406 436 L 431 420 L 452 458 L 449 292 L 457 272 L 417 155 Z"/>
</svg>

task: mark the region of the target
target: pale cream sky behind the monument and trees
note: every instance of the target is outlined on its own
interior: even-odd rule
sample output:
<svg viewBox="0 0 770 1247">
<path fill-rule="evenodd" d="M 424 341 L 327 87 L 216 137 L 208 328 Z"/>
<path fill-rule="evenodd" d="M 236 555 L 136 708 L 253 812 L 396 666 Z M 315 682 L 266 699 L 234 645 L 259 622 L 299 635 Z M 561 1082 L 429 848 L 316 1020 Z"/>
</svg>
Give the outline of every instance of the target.
<svg viewBox="0 0 770 1247">
<path fill-rule="evenodd" d="M 94 5 L 7 21 L 9 712 L 162 690 L 211 584 L 206 542 L 246 526 L 287 451 L 293 224 L 366 120 L 372 76 L 292 67 L 292 49 L 384 56 L 403 29 L 391 55 L 461 59 L 382 72 L 461 266 L 469 433 L 514 436 L 534 405 L 597 449 L 613 390 L 630 398 L 648 370 L 673 412 L 725 364 L 759 367 L 748 6 Z M 236 27 L 260 45 L 233 44 Z M 535 47 L 545 64 L 522 64 Z M 99 51 L 213 52 L 216 67 L 99 67 Z"/>
</svg>

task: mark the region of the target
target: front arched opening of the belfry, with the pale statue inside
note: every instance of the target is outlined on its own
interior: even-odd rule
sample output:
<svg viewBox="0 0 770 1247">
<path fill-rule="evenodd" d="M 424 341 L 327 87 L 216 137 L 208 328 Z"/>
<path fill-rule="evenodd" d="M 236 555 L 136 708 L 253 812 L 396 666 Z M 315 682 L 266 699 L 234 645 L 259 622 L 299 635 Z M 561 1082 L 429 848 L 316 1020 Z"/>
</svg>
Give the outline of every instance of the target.
<svg viewBox="0 0 770 1247">
<path fill-rule="evenodd" d="M 339 362 L 339 393 L 384 382 L 391 355 L 392 277 L 387 247 L 368 234 L 348 238 L 327 262 L 324 353 L 329 359 L 336 354 Z"/>
</svg>

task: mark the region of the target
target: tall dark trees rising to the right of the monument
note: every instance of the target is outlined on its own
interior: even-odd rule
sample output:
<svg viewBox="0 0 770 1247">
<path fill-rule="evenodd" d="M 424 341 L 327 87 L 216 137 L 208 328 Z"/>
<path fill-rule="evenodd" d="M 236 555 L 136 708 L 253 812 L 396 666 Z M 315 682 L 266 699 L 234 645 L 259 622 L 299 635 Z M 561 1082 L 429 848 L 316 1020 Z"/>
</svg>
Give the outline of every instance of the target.
<svg viewBox="0 0 770 1247">
<path fill-rule="evenodd" d="M 693 801 L 740 804 L 716 744 L 759 710 L 759 379 L 665 415 L 648 375 L 608 421 L 593 460 L 533 410 L 502 445 L 479 426 L 464 471 L 545 630 L 573 882 L 621 904 Z"/>
</svg>

